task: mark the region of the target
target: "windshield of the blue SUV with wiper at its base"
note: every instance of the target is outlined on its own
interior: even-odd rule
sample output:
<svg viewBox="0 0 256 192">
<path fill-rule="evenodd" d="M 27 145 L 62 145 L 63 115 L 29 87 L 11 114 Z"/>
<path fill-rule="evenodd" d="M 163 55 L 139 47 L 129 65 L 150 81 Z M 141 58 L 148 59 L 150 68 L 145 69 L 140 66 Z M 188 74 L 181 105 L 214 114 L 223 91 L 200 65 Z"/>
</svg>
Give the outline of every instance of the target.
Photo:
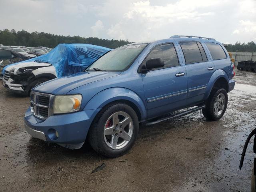
<svg viewBox="0 0 256 192">
<path fill-rule="evenodd" d="M 96 60 L 86 71 L 123 71 L 132 64 L 146 45 L 134 44 L 116 48 Z"/>
</svg>

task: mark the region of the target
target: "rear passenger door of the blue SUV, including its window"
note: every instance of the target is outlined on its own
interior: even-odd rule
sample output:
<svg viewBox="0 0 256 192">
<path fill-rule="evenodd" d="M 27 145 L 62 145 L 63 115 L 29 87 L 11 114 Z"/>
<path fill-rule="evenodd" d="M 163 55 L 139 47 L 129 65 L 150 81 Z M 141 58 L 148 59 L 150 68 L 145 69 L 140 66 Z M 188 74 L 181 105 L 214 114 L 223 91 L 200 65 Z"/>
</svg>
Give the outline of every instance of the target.
<svg viewBox="0 0 256 192">
<path fill-rule="evenodd" d="M 206 87 L 215 67 L 206 55 L 201 42 L 179 42 L 183 52 L 188 80 L 187 104 L 192 105 L 201 102 L 206 92 Z"/>
</svg>

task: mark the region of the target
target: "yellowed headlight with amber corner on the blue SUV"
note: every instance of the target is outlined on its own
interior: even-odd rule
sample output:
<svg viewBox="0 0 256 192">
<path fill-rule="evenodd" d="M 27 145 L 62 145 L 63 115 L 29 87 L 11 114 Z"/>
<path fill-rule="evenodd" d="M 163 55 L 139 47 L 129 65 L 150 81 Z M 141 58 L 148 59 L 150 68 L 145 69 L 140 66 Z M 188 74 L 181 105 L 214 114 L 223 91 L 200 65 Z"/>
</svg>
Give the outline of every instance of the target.
<svg viewBox="0 0 256 192">
<path fill-rule="evenodd" d="M 70 113 L 80 109 L 82 95 L 59 95 L 55 96 L 53 104 L 53 113 Z"/>
</svg>

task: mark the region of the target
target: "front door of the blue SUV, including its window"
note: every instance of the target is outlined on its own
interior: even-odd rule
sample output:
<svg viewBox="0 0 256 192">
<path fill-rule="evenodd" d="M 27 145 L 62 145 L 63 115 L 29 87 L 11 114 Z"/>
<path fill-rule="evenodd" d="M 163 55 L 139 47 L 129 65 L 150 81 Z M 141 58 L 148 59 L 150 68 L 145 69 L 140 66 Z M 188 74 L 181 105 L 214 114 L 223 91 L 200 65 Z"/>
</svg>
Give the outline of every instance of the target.
<svg viewBox="0 0 256 192">
<path fill-rule="evenodd" d="M 149 118 L 186 105 L 186 69 L 179 63 L 175 46 L 172 42 L 160 44 L 143 61 L 145 64 L 152 58 L 164 60 L 164 67 L 141 74 Z"/>
</svg>

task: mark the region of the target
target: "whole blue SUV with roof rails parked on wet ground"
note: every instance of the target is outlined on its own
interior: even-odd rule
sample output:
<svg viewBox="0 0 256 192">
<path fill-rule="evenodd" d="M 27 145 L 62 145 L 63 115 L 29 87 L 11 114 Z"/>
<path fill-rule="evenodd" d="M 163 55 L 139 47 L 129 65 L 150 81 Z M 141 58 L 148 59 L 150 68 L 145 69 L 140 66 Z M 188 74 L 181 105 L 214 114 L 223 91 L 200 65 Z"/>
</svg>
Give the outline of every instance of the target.
<svg viewBox="0 0 256 192">
<path fill-rule="evenodd" d="M 114 158 L 132 147 L 139 123 L 196 110 L 219 120 L 234 75 L 228 52 L 212 38 L 176 35 L 129 44 L 104 54 L 84 72 L 35 87 L 24 117 L 26 130 L 72 149 L 88 139 L 96 152 Z"/>
</svg>

